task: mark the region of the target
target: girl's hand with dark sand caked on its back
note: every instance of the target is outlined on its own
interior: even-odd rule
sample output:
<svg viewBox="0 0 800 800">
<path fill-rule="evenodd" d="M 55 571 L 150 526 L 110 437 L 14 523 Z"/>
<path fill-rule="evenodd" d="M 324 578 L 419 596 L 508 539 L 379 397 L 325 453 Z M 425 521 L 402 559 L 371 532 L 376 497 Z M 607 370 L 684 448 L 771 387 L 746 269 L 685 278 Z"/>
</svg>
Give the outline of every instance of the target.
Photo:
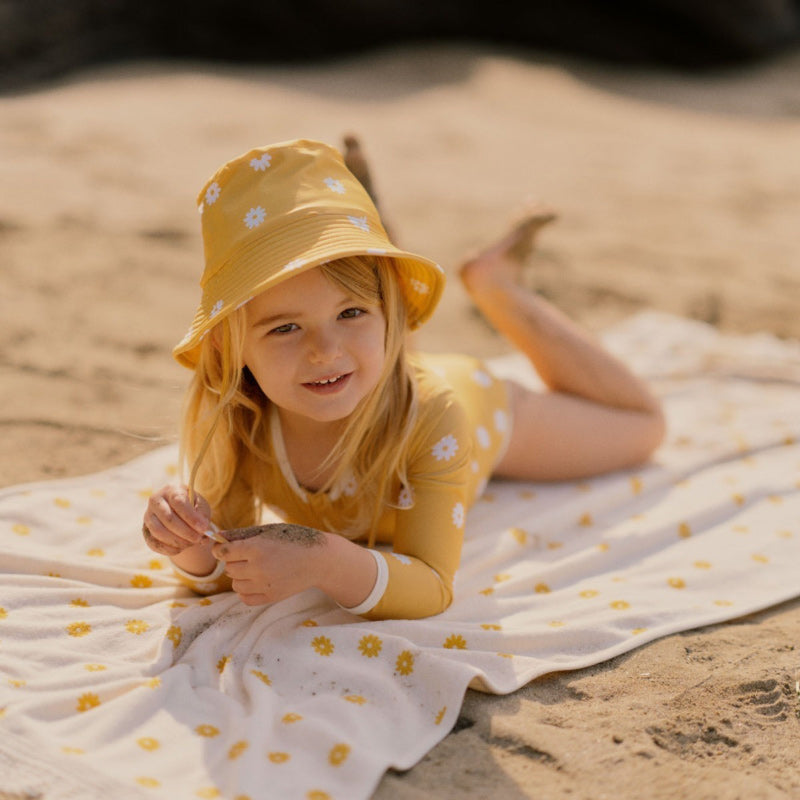
<svg viewBox="0 0 800 800">
<path fill-rule="evenodd" d="M 306 533 L 298 535 L 298 530 Z M 212 552 L 225 562 L 225 572 L 243 603 L 276 603 L 319 584 L 328 541 L 322 531 L 274 524 L 230 533 L 246 538 L 215 544 Z"/>
</svg>

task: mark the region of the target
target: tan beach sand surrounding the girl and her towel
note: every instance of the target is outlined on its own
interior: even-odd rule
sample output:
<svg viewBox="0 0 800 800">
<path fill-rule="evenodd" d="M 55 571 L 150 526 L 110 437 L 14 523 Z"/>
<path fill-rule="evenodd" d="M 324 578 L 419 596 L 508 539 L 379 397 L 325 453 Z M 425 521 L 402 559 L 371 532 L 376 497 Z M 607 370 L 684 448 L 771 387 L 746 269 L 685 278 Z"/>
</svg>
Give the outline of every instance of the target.
<svg viewBox="0 0 800 800">
<path fill-rule="evenodd" d="M 0 483 L 174 441 L 194 196 L 256 144 L 357 131 L 402 244 L 454 275 L 526 199 L 526 279 L 600 330 L 641 308 L 800 337 L 800 57 L 701 76 L 452 46 L 305 68 L 136 64 L 0 98 Z M 506 352 L 452 280 L 421 347 Z M 376 797 L 796 798 L 800 602 L 468 694 Z"/>
</svg>

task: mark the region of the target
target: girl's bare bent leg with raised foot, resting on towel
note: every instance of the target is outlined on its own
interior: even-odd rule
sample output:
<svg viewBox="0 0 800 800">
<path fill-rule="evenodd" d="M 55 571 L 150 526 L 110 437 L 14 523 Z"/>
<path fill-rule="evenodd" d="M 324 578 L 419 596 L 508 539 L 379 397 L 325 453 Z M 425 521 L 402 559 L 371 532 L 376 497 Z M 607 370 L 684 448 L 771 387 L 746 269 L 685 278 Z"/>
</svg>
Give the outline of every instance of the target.
<svg viewBox="0 0 800 800">
<path fill-rule="evenodd" d="M 617 358 L 520 285 L 523 261 L 555 215 L 533 209 L 467 259 L 461 280 L 484 316 L 531 361 L 549 389 L 511 385 L 514 430 L 497 474 L 585 477 L 647 459 L 664 435 L 658 400 Z"/>
</svg>

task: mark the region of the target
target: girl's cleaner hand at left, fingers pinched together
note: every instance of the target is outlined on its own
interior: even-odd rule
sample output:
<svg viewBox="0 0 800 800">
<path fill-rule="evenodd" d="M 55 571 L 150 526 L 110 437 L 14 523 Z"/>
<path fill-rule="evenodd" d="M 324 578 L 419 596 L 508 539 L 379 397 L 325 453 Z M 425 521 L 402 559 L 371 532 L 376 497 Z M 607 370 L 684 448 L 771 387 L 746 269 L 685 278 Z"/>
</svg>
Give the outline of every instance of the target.
<svg viewBox="0 0 800 800">
<path fill-rule="evenodd" d="M 204 535 L 211 524 L 211 508 L 205 498 L 195 495 L 192 505 L 185 486 L 164 486 L 147 501 L 142 533 L 147 546 L 156 553 L 176 556 L 189 547 L 212 541 Z"/>
</svg>

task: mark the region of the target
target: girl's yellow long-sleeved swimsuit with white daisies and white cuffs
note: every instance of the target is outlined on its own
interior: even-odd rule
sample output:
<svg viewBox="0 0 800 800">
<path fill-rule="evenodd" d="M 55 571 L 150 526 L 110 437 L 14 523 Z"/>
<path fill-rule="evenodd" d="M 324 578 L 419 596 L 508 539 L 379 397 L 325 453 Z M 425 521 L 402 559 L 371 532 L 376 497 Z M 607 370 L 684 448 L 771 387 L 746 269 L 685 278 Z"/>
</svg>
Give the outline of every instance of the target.
<svg viewBox="0 0 800 800">
<path fill-rule="evenodd" d="M 381 546 L 371 550 L 378 566 L 375 586 L 363 603 L 347 609 L 368 619 L 427 617 L 450 605 L 467 509 L 483 491 L 511 430 L 507 387 L 477 359 L 421 356 L 416 378 L 419 413 L 408 485 L 395 480 L 394 502 L 379 520 Z M 343 528 L 358 503 L 358 485 L 350 481 L 327 493 L 303 489 L 286 458 L 277 414 L 270 424 L 274 458 L 265 503 L 287 522 L 324 530 L 327 520 Z M 223 580 L 187 582 L 208 593 L 227 588 Z"/>
</svg>

